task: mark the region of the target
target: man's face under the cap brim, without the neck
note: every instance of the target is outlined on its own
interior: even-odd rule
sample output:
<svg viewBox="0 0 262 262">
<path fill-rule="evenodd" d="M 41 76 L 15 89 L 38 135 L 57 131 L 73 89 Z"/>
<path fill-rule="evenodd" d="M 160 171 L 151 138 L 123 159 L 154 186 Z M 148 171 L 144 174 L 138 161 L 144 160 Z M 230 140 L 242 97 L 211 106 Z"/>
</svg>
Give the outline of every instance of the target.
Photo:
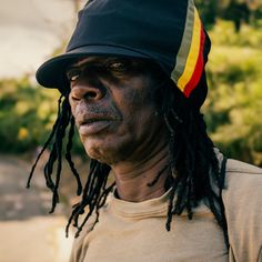
<svg viewBox="0 0 262 262">
<path fill-rule="evenodd" d="M 72 114 L 90 158 L 110 165 L 135 161 L 167 140 L 155 103 L 158 84 L 143 67 L 129 59 L 93 57 L 67 71 Z"/>
</svg>

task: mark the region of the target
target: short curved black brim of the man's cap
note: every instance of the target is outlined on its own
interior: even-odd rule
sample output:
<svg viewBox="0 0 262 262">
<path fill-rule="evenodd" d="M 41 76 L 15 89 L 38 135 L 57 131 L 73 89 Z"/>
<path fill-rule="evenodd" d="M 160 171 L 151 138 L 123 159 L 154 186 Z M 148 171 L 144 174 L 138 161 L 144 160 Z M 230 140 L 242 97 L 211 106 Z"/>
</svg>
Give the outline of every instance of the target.
<svg viewBox="0 0 262 262">
<path fill-rule="evenodd" d="M 111 46 L 85 46 L 73 49 L 64 54 L 46 61 L 36 73 L 38 82 L 44 88 L 64 89 L 67 84 L 66 71 L 75 60 L 94 56 L 121 56 L 150 59 L 149 56 L 135 50 Z"/>
</svg>

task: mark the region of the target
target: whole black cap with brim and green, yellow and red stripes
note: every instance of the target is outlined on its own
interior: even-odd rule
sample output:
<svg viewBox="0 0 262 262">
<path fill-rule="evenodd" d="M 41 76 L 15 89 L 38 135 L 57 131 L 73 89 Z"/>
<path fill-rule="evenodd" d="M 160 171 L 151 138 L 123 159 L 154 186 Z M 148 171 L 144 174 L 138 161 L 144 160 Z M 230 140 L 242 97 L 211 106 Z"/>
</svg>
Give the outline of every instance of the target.
<svg viewBox="0 0 262 262">
<path fill-rule="evenodd" d="M 93 0 L 79 12 L 66 53 L 44 62 L 37 80 L 61 91 L 66 69 L 75 59 L 147 58 L 160 64 L 189 98 L 199 87 L 210 44 L 193 0 Z"/>
</svg>

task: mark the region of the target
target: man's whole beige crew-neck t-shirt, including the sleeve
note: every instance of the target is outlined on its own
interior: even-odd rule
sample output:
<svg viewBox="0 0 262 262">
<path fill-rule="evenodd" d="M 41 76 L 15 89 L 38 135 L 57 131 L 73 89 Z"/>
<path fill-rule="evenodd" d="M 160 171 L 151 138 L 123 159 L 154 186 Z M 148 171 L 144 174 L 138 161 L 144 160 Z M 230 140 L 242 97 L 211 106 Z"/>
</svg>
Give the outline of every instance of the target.
<svg viewBox="0 0 262 262">
<path fill-rule="evenodd" d="M 202 203 L 193 220 L 174 215 L 167 232 L 169 192 L 132 203 L 109 196 L 99 223 L 87 224 L 70 262 L 258 262 L 262 261 L 262 171 L 229 160 L 223 191 L 230 252 L 223 232 Z"/>
</svg>

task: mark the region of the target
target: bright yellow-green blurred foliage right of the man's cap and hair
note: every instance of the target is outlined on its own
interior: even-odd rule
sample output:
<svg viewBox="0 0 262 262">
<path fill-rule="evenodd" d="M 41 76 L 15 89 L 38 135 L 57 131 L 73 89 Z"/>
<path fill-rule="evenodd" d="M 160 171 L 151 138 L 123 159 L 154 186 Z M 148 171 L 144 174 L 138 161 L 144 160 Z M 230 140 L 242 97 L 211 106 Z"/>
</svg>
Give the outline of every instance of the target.
<svg viewBox="0 0 262 262">
<path fill-rule="evenodd" d="M 205 120 L 229 157 L 262 165 L 262 30 L 218 21 L 210 32 Z"/>
</svg>

